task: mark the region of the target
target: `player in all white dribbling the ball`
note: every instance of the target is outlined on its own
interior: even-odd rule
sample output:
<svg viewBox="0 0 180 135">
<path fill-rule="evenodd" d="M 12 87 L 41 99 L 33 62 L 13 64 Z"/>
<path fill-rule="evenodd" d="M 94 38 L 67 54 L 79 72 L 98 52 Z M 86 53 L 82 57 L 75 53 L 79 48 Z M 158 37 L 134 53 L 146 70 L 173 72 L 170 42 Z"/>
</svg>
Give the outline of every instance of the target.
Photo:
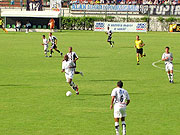
<svg viewBox="0 0 180 135">
<path fill-rule="evenodd" d="M 64 56 L 64 60 L 62 62 L 62 71 L 65 72 L 66 81 L 69 83 L 70 87 L 76 91 L 76 94 L 79 95 L 78 86 L 72 81 L 74 76 L 74 68 L 76 65 L 72 60 L 68 60 L 68 56 Z"/>
</svg>

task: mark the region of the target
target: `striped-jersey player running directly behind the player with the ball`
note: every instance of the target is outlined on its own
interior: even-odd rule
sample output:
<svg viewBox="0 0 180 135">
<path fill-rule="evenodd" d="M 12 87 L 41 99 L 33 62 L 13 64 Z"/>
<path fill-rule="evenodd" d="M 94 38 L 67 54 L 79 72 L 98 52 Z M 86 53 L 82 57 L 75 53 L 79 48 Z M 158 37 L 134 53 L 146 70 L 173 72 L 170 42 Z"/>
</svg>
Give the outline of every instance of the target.
<svg viewBox="0 0 180 135">
<path fill-rule="evenodd" d="M 77 54 L 72 51 L 72 47 L 69 47 L 69 52 L 67 53 L 67 55 L 68 55 L 69 60 L 72 60 L 72 61 L 75 63 L 75 65 L 76 65 L 76 61 L 77 61 L 79 58 L 78 58 Z M 83 73 L 76 71 L 76 68 L 74 68 L 74 73 L 75 73 L 75 74 L 80 74 L 80 75 L 83 76 Z"/>
</svg>

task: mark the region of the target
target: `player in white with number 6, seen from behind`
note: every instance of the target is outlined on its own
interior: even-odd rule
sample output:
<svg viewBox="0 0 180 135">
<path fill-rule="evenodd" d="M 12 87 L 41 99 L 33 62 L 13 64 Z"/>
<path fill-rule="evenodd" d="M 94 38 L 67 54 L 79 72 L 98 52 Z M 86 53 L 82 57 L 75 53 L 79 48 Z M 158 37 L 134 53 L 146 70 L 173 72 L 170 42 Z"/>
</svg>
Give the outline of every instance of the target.
<svg viewBox="0 0 180 135">
<path fill-rule="evenodd" d="M 113 89 L 111 93 L 111 105 L 110 109 L 113 108 L 114 104 L 114 120 L 115 120 L 115 130 L 116 135 L 119 135 L 119 119 L 122 122 L 122 133 L 126 135 L 126 106 L 130 103 L 130 97 L 128 92 L 122 88 L 123 82 L 117 82 L 117 87 Z"/>
</svg>

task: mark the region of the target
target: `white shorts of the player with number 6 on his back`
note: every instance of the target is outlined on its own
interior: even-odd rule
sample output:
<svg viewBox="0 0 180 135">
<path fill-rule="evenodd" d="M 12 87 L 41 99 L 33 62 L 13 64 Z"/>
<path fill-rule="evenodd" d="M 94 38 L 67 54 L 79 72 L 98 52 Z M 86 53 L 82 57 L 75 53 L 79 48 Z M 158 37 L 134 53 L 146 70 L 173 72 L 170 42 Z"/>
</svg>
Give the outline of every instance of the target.
<svg viewBox="0 0 180 135">
<path fill-rule="evenodd" d="M 114 118 L 126 117 L 126 106 L 116 103 L 114 105 Z"/>
</svg>

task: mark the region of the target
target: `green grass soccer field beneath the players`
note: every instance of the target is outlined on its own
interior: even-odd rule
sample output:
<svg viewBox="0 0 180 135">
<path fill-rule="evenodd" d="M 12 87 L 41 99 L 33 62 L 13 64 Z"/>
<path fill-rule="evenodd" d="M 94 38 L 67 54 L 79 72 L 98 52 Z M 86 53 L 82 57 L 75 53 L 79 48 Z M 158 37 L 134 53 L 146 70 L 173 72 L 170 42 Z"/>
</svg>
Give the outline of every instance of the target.
<svg viewBox="0 0 180 135">
<path fill-rule="evenodd" d="M 44 57 L 42 35 L 0 32 L 0 135 L 115 135 L 111 91 L 124 82 L 131 103 L 127 107 L 127 135 L 180 133 L 180 35 L 139 33 L 147 57 L 136 65 L 138 33 L 107 35 L 92 31 L 53 33 L 65 54 L 69 46 L 79 56 L 76 96 L 61 73 L 63 57 Z M 161 59 L 166 46 L 174 56 L 174 84 L 168 82 Z M 65 93 L 73 94 L 66 97 Z"/>
</svg>

